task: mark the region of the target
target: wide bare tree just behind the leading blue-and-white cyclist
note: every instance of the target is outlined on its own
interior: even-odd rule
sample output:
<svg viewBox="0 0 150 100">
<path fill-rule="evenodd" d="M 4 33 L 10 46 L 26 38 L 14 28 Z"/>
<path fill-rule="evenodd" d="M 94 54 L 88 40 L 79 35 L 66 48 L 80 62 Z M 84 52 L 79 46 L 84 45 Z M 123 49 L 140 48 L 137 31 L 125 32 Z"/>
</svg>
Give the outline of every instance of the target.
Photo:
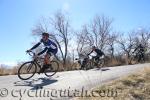
<svg viewBox="0 0 150 100">
<path fill-rule="evenodd" d="M 66 16 L 61 12 L 57 12 L 54 17 L 42 20 L 34 27 L 32 32 L 36 35 L 40 35 L 42 32 L 52 33 L 50 34 L 50 38 L 57 43 L 63 60 L 63 68 L 65 68 L 70 32 L 69 20 Z"/>
</svg>

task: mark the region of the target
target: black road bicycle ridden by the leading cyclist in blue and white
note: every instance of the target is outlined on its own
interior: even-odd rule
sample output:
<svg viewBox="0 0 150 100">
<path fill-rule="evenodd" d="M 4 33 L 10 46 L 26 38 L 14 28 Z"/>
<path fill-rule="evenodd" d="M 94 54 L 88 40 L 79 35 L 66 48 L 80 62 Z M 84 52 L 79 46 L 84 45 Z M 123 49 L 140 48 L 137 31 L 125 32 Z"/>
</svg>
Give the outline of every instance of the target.
<svg viewBox="0 0 150 100">
<path fill-rule="evenodd" d="M 42 57 L 35 57 L 35 53 L 32 51 L 28 54 L 32 56 L 33 60 L 23 63 L 18 69 L 18 77 L 22 80 L 28 80 L 32 78 L 35 73 L 41 74 L 40 70 L 42 68 L 42 62 L 44 61 L 44 58 Z M 50 62 L 51 66 L 44 71 L 47 77 L 55 75 L 59 69 L 59 63 L 57 61 Z"/>
</svg>

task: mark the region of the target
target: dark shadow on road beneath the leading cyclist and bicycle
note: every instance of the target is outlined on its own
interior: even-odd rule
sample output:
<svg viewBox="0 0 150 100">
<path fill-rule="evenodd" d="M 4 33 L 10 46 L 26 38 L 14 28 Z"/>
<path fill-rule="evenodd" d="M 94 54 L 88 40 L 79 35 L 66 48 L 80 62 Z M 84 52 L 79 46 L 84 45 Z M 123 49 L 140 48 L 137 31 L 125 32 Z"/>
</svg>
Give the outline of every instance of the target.
<svg viewBox="0 0 150 100">
<path fill-rule="evenodd" d="M 32 87 L 31 90 L 35 89 L 42 89 L 43 86 L 50 85 L 57 82 L 55 79 L 49 79 L 49 78 L 38 78 L 33 80 L 22 80 L 14 82 L 14 86 L 28 86 Z"/>
</svg>

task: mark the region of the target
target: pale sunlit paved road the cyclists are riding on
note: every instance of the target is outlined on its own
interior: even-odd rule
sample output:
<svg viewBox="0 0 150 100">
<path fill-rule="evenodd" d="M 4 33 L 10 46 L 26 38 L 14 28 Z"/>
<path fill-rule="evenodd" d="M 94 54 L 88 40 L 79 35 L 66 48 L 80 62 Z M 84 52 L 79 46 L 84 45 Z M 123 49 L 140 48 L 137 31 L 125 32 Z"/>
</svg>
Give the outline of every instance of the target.
<svg viewBox="0 0 150 100">
<path fill-rule="evenodd" d="M 83 96 L 98 85 L 124 75 L 150 67 L 149 63 L 130 66 L 106 67 L 101 70 L 76 70 L 59 72 L 48 78 L 36 74 L 32 79 L 22 81 L 16 75 L 0 77 L 0 100 L 61 100 Z"/>
</svg>

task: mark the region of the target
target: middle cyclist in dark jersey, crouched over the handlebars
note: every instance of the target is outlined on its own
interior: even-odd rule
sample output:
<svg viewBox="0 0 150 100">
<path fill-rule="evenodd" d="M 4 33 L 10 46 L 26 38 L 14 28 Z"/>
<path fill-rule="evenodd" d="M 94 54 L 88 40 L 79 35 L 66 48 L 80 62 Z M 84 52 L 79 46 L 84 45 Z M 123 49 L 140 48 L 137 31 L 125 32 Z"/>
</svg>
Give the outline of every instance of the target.
<svg viewBox="0 0 150 100">
<path fill-rule="evenodd" d="M 99 60 L 100 57 L 102 57 L 104 54 L 104 52 L 102 52 L 100 49 L 98 49 L 95 46 L 92 46 L 92 51 L 88 54 L 90 55 L 92 52 L 96 53 L 96 56 L 93 56 L 93 59 L 97 62 Z"/>
</svg>

